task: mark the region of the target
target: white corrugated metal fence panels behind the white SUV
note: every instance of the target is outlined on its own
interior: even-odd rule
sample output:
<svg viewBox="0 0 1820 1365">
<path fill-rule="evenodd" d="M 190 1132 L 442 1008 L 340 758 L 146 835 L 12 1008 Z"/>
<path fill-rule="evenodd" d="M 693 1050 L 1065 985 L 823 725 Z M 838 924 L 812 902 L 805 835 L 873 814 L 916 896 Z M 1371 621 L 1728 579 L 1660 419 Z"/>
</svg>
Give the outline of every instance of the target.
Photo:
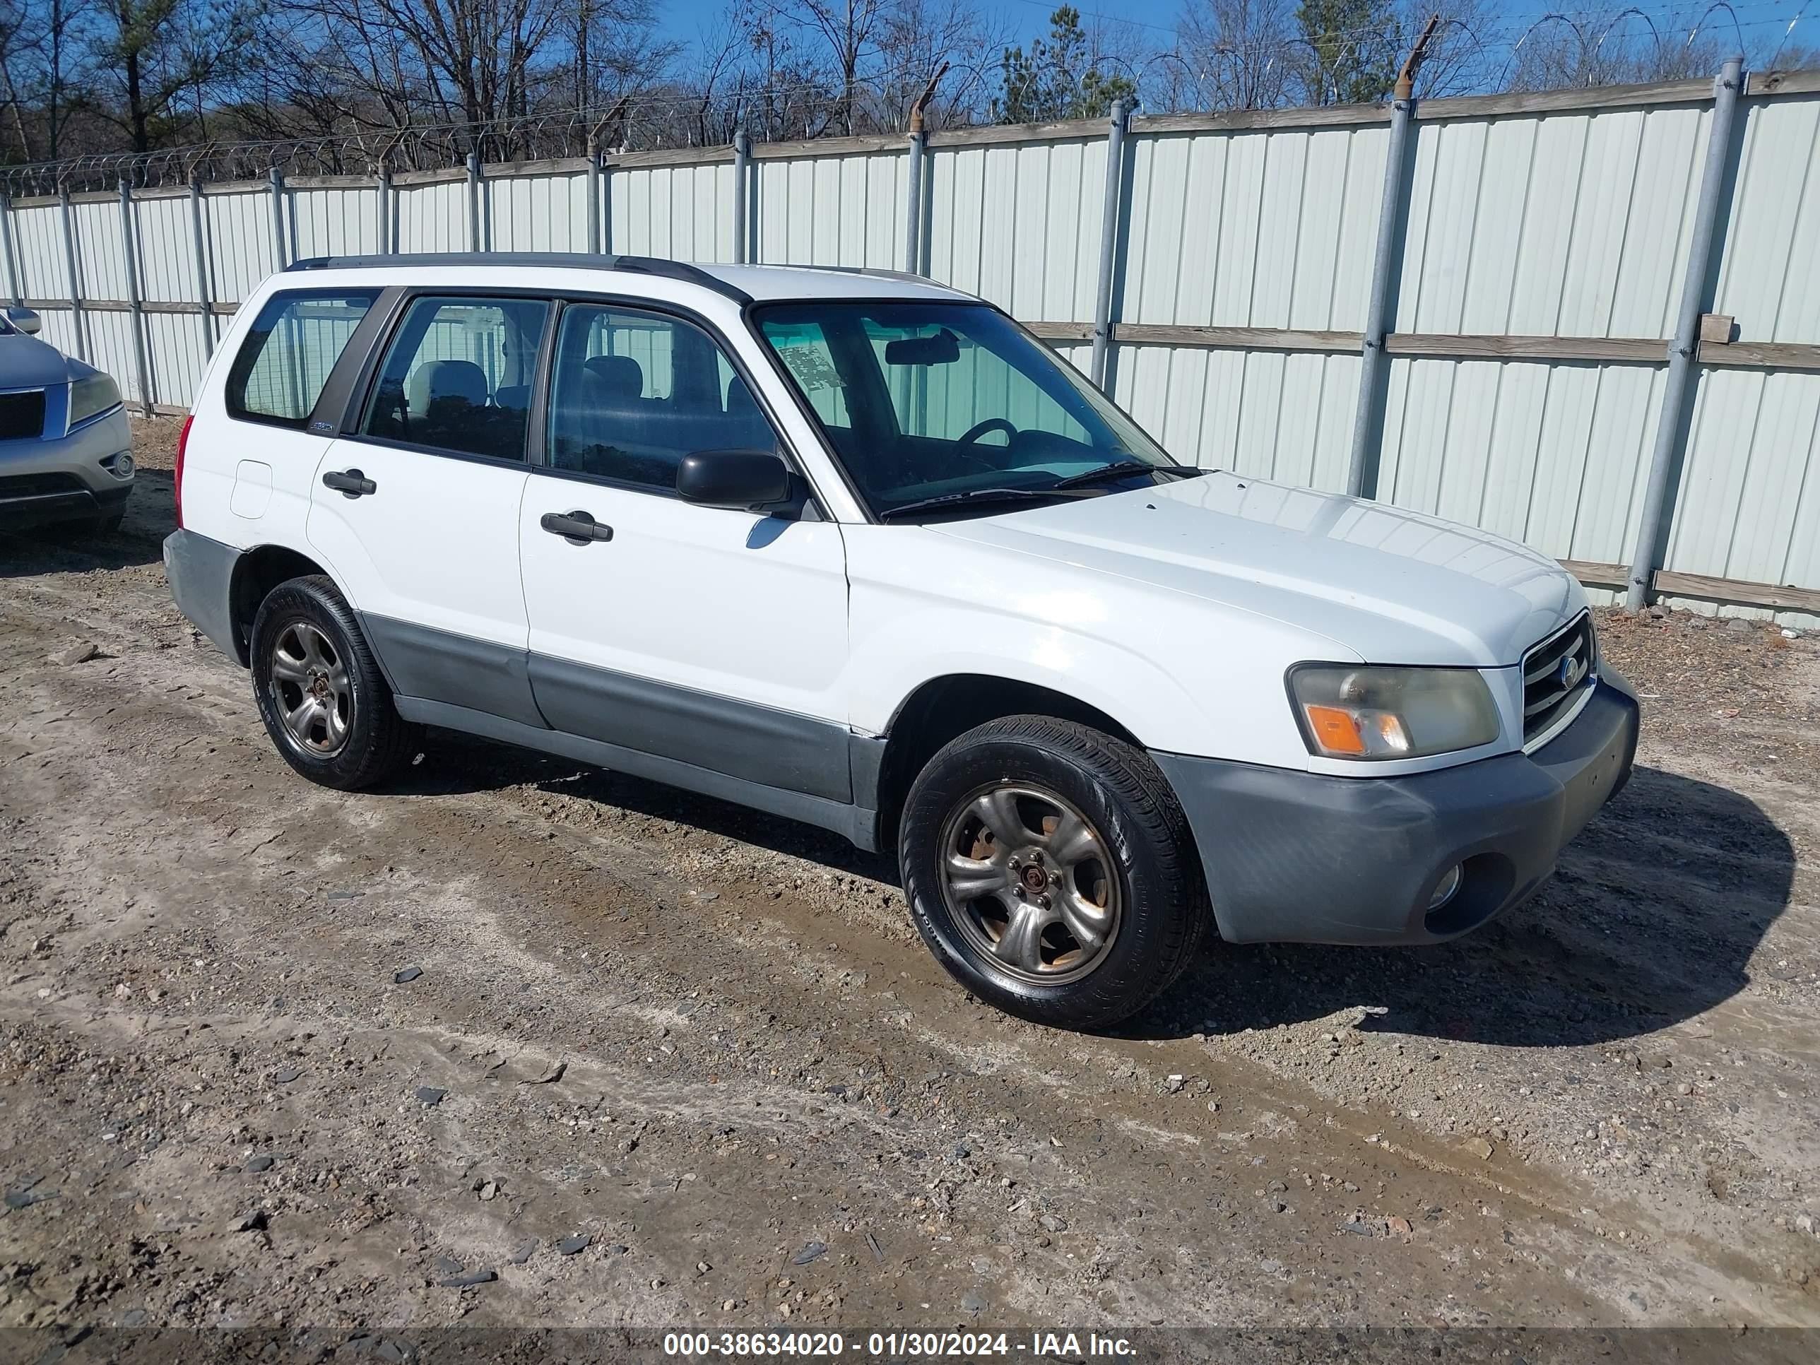
<svg viewBox="0 0 1820 1365">
<path fill-rule="evenodd" d="M 0 293 L 135 400 L 173 408 L 260 278 L 373 251 L 910 266 L 1087 369 L 1110 187 L 1097 322 L 1117 400 L 1179 459 L 1336 490 L 1390 173 L 1401 215 L 1365 490 L 1618 586 L 1713 106 L 1700 80 L 1431 100 L 1400 167 L 1389 109 L 1338 107 L 1136 118 L 1110 178 L 1096 120 L 935 133 L 917 157 L 899 138 L 755 146 L 744 186 L 728 147 L 18 198 Z M 1704 328 L 1654 588 L 1820 624 L 1820 76 L 1747 78 L 1720 153 L 1700 306 L 1733 326 Z"/>
</svg>

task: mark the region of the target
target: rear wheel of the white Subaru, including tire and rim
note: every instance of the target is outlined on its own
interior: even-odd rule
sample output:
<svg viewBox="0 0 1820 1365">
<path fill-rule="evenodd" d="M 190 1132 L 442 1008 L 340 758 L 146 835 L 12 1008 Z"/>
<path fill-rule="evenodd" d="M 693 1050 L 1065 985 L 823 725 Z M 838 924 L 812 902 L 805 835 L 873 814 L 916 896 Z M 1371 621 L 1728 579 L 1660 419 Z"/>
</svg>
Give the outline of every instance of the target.
<svg viewBox="0 0 1820 1365">
<path fill-rule="evenodd" d="M 415 730 L 348 602 L 322 577 L 273 588 L 253 617 L 253 693 L 278 753 L 322 786 L 353 792 L 410 757 Z"/>
</svg>

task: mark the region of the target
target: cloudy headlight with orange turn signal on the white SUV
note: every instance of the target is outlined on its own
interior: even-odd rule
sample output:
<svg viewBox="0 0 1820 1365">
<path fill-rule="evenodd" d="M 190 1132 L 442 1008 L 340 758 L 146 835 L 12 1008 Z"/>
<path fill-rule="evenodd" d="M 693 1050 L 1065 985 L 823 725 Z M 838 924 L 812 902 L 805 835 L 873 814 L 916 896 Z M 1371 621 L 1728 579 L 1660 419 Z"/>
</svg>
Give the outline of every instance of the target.
<svg viewBox="0 0 1820 1365">
<path fill-rule="evenodd" d="M 1309 753 L 1421 759 L 1498 737 L 1498 704 L 1472 668 L 1296 664 L 1289 695 Z"/>
</svg>

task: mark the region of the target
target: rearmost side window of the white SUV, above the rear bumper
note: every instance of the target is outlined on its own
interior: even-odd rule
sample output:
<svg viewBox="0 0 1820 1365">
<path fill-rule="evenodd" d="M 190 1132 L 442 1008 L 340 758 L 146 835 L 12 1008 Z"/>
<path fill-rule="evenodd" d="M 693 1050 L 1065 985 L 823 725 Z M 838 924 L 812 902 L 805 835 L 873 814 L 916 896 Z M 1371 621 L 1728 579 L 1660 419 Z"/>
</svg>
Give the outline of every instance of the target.
<svg viewBox="0 0 1820 1365">
<path fill-rule="evenodd" d="M 302 428 L 379 289 L 275 293 L 228 371 L 228 411 Z"/>
</svg>

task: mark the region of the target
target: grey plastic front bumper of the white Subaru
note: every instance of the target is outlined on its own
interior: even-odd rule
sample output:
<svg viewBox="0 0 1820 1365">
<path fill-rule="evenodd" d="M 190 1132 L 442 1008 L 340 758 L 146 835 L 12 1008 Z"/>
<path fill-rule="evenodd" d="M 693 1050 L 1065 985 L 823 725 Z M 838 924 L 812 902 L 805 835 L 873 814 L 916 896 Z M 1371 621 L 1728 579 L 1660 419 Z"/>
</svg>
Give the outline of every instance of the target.
<svg viewBox="0 0 1820 1365">
<path fill-rule="evenodd" d="M 1152 753 L 1232 943 L 1441 943 L 1529 899 L 1631 775 L 1638 704 L 1605 670 L 1562 733 L 1407 777 L 1327 777 Z M 1460 890 L 1429 912 L 1441 877 Z"/>
</svg>

